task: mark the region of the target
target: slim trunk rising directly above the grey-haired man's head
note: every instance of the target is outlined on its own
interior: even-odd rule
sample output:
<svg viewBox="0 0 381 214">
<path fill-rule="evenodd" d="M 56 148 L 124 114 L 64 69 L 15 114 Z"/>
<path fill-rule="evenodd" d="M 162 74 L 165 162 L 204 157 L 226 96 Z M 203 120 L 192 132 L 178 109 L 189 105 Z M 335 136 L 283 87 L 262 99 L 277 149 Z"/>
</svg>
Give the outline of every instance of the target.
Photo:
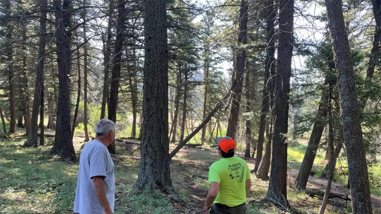
<svg viewBox="0 0 381 214">
<path fill-rule="evenodd" d="M 109 98 L 109 70 L 110 70 L 110 55 L 111 55 L 111 40 L 113 38 L 112 34 L 112 26 L 113 26 L 113 5 L 114 0 L 109 0 L 109 14 L 108 14 L 108 26 L 107 26 L 107 41 L 105 44 L 105 54 L 104 54 L 104 62 L 103 65 L 105 66 L 104 72 L 105 76 L 103 78 L 103 92 L 102 92 L 102 107 L 101 107 L 101 119 L 105 118 L 105 112 L 106 112 L 106 103 Z"/>
</svg>

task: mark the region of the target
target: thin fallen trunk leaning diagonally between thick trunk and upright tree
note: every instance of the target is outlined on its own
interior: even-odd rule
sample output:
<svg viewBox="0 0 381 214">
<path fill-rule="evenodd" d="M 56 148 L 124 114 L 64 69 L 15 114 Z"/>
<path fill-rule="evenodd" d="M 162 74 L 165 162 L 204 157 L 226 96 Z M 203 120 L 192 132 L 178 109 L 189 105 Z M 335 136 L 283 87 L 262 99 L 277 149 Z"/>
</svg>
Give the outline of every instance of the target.
<svg viewBox="0 0 381 214">
<path fill-rule="evenodd" d="M 204 127 L 208 122 L 209 120 L 212 118 L 212 116 L 223 106 L 225 100 L 228 100 L 228 98 L 230 97 L 231 95 L 231 92 L 232 92 L 232 89 L 233 89 L 233 86 L 235 84 L 232 84 L 232 87 L 230 88 L 230 90 L 224 95 L 224 97 L 217 103 L 216 107 L 213 108 L 213 110 L 208 114 L 208 116 L 202 121 L 202 123 L 194 130 L 192 131 L 192 133 L 190 135 L 188 135 L 187 138 L 185 138 L 183 141 L 181 141 L 179 143 L 179 145 L 169 154 L 169 158 L 173 158 L 176 153 L 178 153 L 181 148 L 183 148 L 187 143 L 188 141 L 191 140 L 191 138 L 196 135 L 201 129 L 202 127 Z"/>
</svg>

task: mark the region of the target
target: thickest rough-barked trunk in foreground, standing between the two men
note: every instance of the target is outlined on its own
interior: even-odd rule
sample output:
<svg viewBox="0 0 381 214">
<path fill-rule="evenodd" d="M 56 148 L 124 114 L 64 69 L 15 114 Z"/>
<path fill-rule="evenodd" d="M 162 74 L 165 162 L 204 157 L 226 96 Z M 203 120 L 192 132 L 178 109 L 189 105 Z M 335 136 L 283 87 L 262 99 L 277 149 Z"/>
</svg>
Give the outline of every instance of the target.
<svg viewBox="0 0 381 214">
<path fill-rule="evenodd" d="M 141 158 L 136 187 L 172 188 L 168 139 L 166 1 L 144 1 L 144 77 Z"/>
</svg>

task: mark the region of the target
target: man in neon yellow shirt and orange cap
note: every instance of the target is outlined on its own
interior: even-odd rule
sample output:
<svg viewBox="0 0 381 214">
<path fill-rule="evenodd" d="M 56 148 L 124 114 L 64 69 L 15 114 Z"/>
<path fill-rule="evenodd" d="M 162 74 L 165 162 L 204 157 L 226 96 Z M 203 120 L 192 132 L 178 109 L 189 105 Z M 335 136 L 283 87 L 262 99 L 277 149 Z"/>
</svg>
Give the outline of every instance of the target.
<svg viewBox="0 0 381 214">
<path fill-rule="evenodd" d="M 216 143 L 220 160 L 209 169 L 210 189 L 205 213 L 246 214 L 246 199 L 252 186 L 248 164 L 234 157 L 236 144 L 231 137 L 219 137 Z"/>
</svg>

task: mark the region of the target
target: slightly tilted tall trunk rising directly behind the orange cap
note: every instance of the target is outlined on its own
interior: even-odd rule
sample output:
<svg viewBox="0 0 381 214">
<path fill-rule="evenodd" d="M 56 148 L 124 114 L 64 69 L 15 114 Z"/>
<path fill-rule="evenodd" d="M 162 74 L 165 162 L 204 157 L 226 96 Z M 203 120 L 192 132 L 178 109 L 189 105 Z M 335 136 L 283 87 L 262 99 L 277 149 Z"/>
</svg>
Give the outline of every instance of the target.
<svg viewBox="0 0 381 214">
<path fill-rule="evenodd" d="M 240 9 L 240 27 L 239 27 L 238 44 L 240 46 L 237 52 L 237 72 L 236 78 L 233 83 L 233 94 L 232 94 L 232 107 L 230 111 L 230 117 L 228 122 L 228 129 L 226 136 L 232 137 L 236 136 L 237 125 L 240 115 L 240 103 L 241 103 L 241 93 L 243 85 L 243 75 L 245 70 L 246 62 L 246 50 L 243 48 L 248 43 L 248 2 L 247 0 L 241 0 Z"/>
</svg>

